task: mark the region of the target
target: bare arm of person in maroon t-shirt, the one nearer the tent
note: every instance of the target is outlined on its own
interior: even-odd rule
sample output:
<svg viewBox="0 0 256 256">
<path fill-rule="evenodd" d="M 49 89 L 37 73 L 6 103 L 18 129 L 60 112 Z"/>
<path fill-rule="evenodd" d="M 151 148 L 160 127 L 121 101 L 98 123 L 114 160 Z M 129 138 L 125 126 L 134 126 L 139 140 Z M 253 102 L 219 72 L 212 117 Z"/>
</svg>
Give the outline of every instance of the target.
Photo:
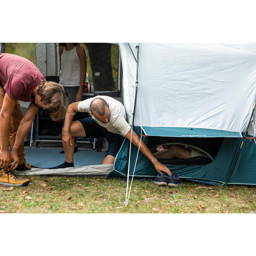
<svg viewBox="0 0 256 256">
<path fill-rule="evenodd" d="M 31 102 L 28 106 L 25 116 L 20 121 L 20 125 L 15 138 L 15 143 L 10 155 L 10 161 L 13 161 L 10 170 L 14 170 L 19 164 L 18 149 L 21 143 L 24 143 L 24 138 L 32 125 L 37 110 L 38 108 Z"/>
</svg>

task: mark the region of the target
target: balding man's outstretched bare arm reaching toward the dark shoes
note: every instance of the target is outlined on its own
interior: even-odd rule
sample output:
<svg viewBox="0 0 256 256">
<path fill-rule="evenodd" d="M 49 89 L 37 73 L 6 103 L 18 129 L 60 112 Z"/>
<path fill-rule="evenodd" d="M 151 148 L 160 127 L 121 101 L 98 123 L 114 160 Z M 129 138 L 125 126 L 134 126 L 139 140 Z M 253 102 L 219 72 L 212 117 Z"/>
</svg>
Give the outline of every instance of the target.
<svg viewBox="0 0 256 256">
<path fill-rule="evenodd" d="M 161 164 L 155 156 L 153 156 L 153 154 L 151 153 L 151 151 L 148 149 L 148 147 L 144 144 L 144 142 L 141 140 L 140 143 L 140 138 L 137 136 L 137 134 L 135 132 L 132 131 L 132 129 L 127 132 L 127 134 L 125 135 L 125 137 L 128 140 L 131 140 L 131 132 L 132 132 L 132 143 L 139 148 L 140 145 L 140 151 L 148 157 L 148 159 L 152 162 L 152 164 L 154 164 L 156 171 L 159 172 L 160 174 L 162 174 L 162 172 L 167 173 L 168 175 L 171 175 L 171 171 L 164 165 Z"/>
</svg>

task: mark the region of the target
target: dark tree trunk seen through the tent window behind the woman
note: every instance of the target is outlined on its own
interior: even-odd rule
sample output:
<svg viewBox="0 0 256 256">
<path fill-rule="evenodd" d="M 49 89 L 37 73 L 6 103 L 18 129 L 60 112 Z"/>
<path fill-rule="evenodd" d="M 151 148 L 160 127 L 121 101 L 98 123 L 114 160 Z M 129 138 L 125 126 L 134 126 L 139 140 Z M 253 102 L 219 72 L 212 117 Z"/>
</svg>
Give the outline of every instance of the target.
<svg viewBox="0 0 256 256">
<path fill-rule="evenodd" d="M 111 44 L 84 43 L 89 51 L 94 91 L 114 91 Z"/>
</svg>

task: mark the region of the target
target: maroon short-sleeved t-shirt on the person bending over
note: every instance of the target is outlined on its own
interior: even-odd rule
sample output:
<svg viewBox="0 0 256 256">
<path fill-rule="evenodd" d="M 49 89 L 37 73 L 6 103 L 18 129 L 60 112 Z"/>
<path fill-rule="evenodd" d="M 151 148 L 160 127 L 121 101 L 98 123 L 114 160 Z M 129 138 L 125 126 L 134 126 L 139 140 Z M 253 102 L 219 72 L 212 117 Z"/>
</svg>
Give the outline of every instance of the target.
<svg viewBox="0 0 256 256">
<path fill-rule="evenodd" d="M 44 76 L 31 61 L 14 54 L 0 53 L 0 83 L 12 100 L 34 103 L 31 95 L 42 79 Z"/>
</svg>

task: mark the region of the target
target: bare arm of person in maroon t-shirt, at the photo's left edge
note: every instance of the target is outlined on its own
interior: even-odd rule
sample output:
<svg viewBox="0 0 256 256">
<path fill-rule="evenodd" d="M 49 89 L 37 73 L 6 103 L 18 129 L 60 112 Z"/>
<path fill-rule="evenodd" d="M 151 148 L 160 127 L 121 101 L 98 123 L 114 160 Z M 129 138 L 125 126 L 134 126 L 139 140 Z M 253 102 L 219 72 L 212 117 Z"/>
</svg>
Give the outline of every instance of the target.
<svg viewBox="0 0 256 256">
<path fill-rule="evenodd" d="M 7 93 L 4 95 L 4 102 L 0 112 L 0 168 L 7 169 L 10 164 L 9 155 L 9 132 L 11 115 L 15 108 L 16 101 L 12 100 Z"/>
</svg>

